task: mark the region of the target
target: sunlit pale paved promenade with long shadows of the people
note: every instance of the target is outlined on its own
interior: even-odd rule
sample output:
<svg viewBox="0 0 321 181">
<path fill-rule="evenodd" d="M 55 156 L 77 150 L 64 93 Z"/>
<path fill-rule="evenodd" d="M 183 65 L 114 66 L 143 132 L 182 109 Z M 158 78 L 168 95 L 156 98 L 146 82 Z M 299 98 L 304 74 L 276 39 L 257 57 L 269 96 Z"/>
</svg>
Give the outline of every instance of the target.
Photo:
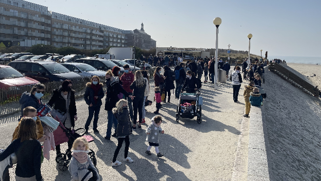
<svg viewBox="0 0 321 181">
<path fill-rule="evenodd" d="M 150 90 L 149 100 L 153 100 L 153 84 L 151 84 Z M 112 138 L 111 141 L 106 141 L 103 138 L 107 127 L 107 112 L 102 107 L 98 128 L 100 134 L 94 134 L 92 131 L 89 133 L 95 139 L 90 143 L 90 146 L 96 152 L 100 180 L 229 181 L 232 180 L 232 175 L 234 180 L 246 180 L 244 175 L 247 170 L 247 153 L 240 149 L 241 145 L 247 144 L 246 140 L 248 141 L 248 139 L 242 138 L 248 134 L 248 125 L 242 126 L 241 124 L 244 122 L 242 92 L 243 85 L 239 96 L 241 103 L 234 103 L 230 81 L 220 83 L 217 91 L 214 91 L 213 84 L 203 83 L 201 89 L 203 121 L 201 124 L 196 122 L 196 118 L 194 120 L 180 119 L 177 123 L 175 111 L 178 100 L 174 99 L 174 95 L 172 95 L 171 103 L 163 103 L 163 108 L 160 111 L 160 115 L 164 119 L 161 127 L 165 131 L 165 134 L 160 138 L 159 148 L 164 154 L 161 159 L 157 158 L 153 148 L 151 150 L 153 155 L 145 154 L 147 142 L 144 129 L 150 123 L 150 119 L 155 116 L 153 112 L 156 109 L 155 103 L 146 107 L 148 111 L 146 112 L 147 124 L 143 124 L 142 130 L 137 130 L 130 136 L 128 156 L 134 162 L 124 163 L 115 168 L 110 164 L 117 140 Z M 88 108 L 84 101 L 77 101 L 77 110 L 79 121 L 76 124 L 77 127 L 81 127 L 88 116 Z M 3 140 L 0 142 L 1 148 L 5 148 L 10 143 L 12 133 L 18 123 L 17 118 L 16 114 L 0 120 L 0 137 Z M 66 143 L 61 146 L 61 150 L 65 148 Z M 118 156 L 119 161 L 122 161 L 123 149 L 124 145 Z M 70 181 L 69 172 L 61 172 L 58 169 L 55 162 L 56 153 L 51 151 L 50 156 L 50 161 L 45 160 L 41 165 L 44 180 Z M 236 158 L 238 158 L 237 161 Z M 233 173 L 234 165 L 236 167 Z M 14 169 L 10 169 L 10 172 L 13 177 Z"/>
</svg>

